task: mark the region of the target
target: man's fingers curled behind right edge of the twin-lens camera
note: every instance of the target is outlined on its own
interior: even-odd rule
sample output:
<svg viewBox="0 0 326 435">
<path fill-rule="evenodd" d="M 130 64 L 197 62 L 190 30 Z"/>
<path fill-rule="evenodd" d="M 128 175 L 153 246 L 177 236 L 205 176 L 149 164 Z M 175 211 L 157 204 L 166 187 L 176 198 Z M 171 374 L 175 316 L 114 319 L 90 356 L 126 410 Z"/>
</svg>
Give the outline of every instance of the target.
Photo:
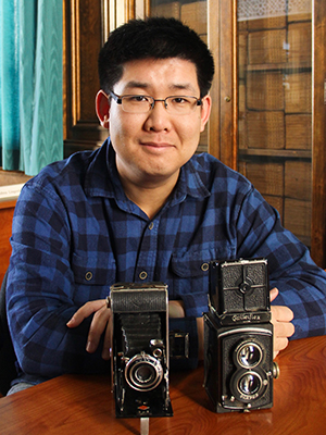
<svg viewBox="0 0 326 435">
<path fill-rule="evenodd" d="M 269 294 L 271 301 L 278 295 L 278 289 L 273 288 Z M 274 325 L 274 358 L 278 352 L 285 349 L 288 338 L 294 334 L 294 326 L 291 323 L 293 312 L 288 307 L 272 306 L 272 323 Z"/>
</svg>

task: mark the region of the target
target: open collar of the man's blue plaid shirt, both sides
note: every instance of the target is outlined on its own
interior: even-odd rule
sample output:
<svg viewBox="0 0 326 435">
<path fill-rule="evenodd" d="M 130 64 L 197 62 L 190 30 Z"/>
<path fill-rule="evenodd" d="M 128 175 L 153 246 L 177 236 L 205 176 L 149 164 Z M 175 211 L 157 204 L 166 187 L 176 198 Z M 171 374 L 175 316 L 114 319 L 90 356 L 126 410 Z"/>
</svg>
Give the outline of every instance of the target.
<svg viewBox="0 0 326 435">
<path fill-rule="evenodd" d="M 106 139 L 92 156 L 93 159 L 85 177 L 86 192 L 91 197 L 126 200 L 115 165 L 115 151 L 110 139 Z M 171 204 L 181 202 L 187 196 L 199 199 L 210 196 L 210 191 L 201 177 L 196 157 L 192 157 L 180 169 L 180 175 L 171 198 Z"/>
</svg>

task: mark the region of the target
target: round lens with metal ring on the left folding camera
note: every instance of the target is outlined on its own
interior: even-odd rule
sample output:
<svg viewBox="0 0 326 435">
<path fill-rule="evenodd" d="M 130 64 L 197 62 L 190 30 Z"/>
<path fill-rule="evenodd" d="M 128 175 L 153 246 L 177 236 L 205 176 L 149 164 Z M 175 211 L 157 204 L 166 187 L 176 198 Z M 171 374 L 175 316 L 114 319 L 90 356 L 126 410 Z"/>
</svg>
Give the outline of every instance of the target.
<svg viewBox="0 0 326 435">
<path fill-rule="evenodd" d="M 131 388 L 150 391 L 162 381 L 163 368 L 159 360 L 142 352 L 126 363 L 125 378 Z"/>
</svg>

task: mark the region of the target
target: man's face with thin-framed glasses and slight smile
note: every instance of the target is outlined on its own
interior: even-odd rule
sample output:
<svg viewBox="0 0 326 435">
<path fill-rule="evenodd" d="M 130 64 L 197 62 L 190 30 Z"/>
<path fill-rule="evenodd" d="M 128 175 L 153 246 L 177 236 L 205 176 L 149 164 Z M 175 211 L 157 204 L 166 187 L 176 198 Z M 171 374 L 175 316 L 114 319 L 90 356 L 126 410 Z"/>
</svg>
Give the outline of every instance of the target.
<svg viewBox="0 0 326 435">
<path fill-rule="evenodd" d="M 200 97 L 196 66 L 178 58 L 138 60 L 124 65 L 113 91 L 118 96 Z M 176 183 L 179 169 L 195 153 L 210 114 L 210 97 L 187 115 L 171 114 L 161 101 L 148 113 L 127 113 L 111 100 L 109 129 L 122 179 L 146 187 Z"/>
</svg>

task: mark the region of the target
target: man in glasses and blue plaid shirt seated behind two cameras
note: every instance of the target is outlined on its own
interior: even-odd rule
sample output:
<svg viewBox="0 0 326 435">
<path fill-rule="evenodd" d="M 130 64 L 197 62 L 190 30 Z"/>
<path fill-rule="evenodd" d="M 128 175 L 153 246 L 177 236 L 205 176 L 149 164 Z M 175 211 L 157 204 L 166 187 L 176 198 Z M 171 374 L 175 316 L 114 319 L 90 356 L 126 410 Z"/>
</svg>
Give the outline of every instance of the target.
<svg viewBox="0 0 326 435">
<path fill-rule="evenodd" d="M 198 35 L 175 20 L 133 21 L 110 36 L 99 73 L 96 109 L 110 138 L 46 167 L 16 204 L 8 278 L 14 383 L 108 371 L 105 297 L 115 282 L 168 285 L 170 327 L 190 333 L 193 366 L 216 259 L 268 259 L 271 299 L 279 293 L 275 355 L 293 325 L 294 338 L 325 334 L 325 273 L 246 178 L 195 156 L 214 73 Z"/>
</svg>

